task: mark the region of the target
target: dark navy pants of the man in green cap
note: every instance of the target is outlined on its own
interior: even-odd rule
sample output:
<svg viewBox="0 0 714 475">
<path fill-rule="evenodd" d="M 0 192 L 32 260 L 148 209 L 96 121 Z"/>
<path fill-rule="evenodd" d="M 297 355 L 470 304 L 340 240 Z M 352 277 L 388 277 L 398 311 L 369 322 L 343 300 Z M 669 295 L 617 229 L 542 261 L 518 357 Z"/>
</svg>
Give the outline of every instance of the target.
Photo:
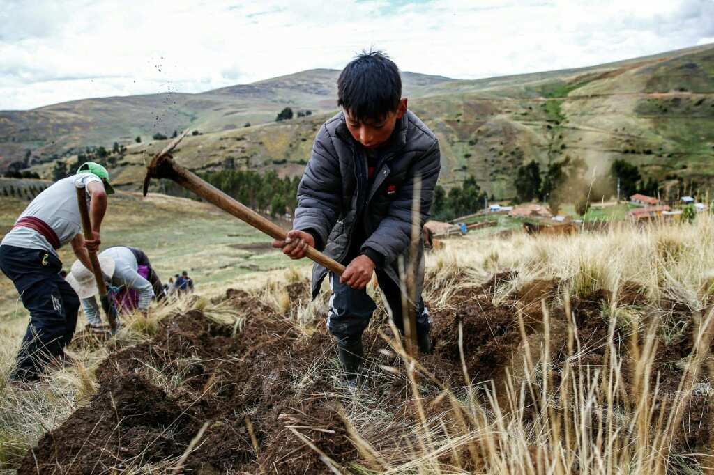
<svg viewBox="0 0 714 475">
<path fill-rule="evenodd" d="M 44 250 L 0 245 L 0 269 L 30 312 L 11 379 L 39 378 L 45 364 L 62 357 L 77 325 L 79 297 L 59 275 L 62 262 Z"/>
</svg>

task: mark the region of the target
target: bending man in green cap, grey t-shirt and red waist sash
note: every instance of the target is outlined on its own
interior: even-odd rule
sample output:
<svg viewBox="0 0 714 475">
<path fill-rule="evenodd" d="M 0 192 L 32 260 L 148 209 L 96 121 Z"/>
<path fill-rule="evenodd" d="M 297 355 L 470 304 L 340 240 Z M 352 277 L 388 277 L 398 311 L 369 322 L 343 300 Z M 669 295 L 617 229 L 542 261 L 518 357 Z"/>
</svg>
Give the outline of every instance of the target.
<svg viewBox="0 0 714 475">
<path fill-rule="evenodd" d="M 91 240 L 84 240 L 76 188 L 87 191 Z M 64 347 L 71 342 L 79 297 L 59 274 L 57 250 L 68 242 L 87 268 L 87 250 L 101 244 L 101 222 L 107 195 L 114 193 L 109 172 L 99 163 L 80 165 L 76 175 L 58 180 L 36 196 L 0 242 L 0 269 L 9 277 L 30 312 L 30 322 L 17 354 L 11 382 L 34 382 L 49 362 L 64 364 Z"/>
</svg>

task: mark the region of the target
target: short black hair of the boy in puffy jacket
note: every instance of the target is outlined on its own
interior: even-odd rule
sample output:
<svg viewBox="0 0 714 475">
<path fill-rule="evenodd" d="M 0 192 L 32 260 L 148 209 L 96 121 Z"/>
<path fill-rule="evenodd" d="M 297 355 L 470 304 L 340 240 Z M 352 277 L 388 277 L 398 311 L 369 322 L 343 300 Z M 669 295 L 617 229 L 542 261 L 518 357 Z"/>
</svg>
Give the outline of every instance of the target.
<svg viewBox="0 0 714 475">
<path fill-rule="evenodd" d="M 340 73 L 337 97 L 355 120 L 381 120 L 399 107 L 399 68 L 382 51 L 362 51 Z"/>
</svg>

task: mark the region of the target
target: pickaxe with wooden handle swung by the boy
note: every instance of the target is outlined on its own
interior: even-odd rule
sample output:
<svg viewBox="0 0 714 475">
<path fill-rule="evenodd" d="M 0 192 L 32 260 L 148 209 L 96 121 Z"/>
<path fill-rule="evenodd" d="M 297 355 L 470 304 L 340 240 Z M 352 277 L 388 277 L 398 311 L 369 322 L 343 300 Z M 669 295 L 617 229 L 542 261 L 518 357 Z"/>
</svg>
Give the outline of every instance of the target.
<svg viewBox="0 0 714 475">
<path fill-rule="evenodd" d="M 186 133 L 188 133 L 188 131 L 184 131 L 180 136 L 171 141 L 169 145 L 166 145 L 164 150 L 157 153 L 154 156 L 154 159 L 151 160 L 151 163 L 149 163 L 149 166 L 146 167 L 146 178 L 144 178 L 144 196 L 146 196 L 146 193 L 149 191 L 149 182 L 151 181 L 151 178 L 168 178 L 169 180 L 173 180 L 178 183 L 178 185 L 183 186 L 183 188 L 196 193 L 196 195 L 208 201 L 208 203 L 213 203 L 213 205 L 221 208 L 221 210 L 230 213 L 244 223 L 251 225 L 253 228 L 262 231 L 263 233 L 266 233 L 270 237 L 273 237 L 273 239 L 281 241 L 285 240 L 288 234 L 286 230 L 276 225 L 271 220 L 259 215 L 238 200 L 226 195 L 226 193 L 223 193 L 221 190 L 218 190 L 218 188 L 207 183 L 196 174 L 191 173 L 191 171 L 176 163 L 174 158 L 171 157 L 171 150 L 173 150 L 181 139 L 186 136 Z M 319 265 L 335 272 L 337 275 L 342 275 L 342 272 L 345 270 L 345 266 L 341 265 L 331 257 L 324 255 L 312 246 L 308 247 L 306 256 L 314 262 L 317 262 Z"/>
</svg>

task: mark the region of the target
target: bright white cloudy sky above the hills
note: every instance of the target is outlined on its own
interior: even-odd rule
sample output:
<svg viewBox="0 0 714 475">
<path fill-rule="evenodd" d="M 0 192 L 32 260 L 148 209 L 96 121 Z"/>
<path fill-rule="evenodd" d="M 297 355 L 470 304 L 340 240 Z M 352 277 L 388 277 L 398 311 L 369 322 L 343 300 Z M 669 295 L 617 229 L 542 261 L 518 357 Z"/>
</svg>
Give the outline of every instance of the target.
<svg viewBox="0 0 714 475">
<path fill-rule="evenodd" d="M 380 48 L 453 78 L 714 42 L 714 0 L 0 0 L 0 109 L 200 92 Z"/>
</svg>

